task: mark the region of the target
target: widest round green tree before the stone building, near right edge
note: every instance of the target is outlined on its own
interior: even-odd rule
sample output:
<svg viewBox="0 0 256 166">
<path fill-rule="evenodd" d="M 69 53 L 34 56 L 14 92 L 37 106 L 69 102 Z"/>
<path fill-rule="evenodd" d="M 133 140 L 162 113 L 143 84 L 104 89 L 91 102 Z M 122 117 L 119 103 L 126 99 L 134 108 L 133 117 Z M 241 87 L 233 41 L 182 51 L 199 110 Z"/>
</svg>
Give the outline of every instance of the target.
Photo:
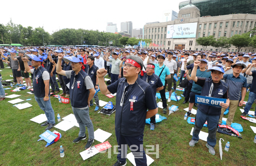
<svg viewBox="0 0 256 166">
<path fill-rule="evenodd" d="M 242 47 L 247 47 L 250 44 L 250 42 L 251 39 L 249 33 L 243 33 L 242 35 L 233 35 L 229 39 L 229 43 L 237 47 L 238 52 Z"/>
</svg>

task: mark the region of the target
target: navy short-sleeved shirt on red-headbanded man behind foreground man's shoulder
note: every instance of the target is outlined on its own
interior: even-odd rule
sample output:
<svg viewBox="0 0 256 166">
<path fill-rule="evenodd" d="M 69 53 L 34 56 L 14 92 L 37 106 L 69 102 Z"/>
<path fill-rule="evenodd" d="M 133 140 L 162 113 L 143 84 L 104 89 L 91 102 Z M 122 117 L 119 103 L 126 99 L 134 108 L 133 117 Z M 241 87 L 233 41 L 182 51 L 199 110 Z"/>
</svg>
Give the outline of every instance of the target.
<svg viewBox="0 0 256 166">
<path fill-rule="evenodd" d="M 146 81 L 152 87 L 154 94 L 156 94 L 156 89 L 163 86 L 161 79 L 159 79 L 159 76 L 157 76 L 154 73 L 151 76 L 149 76 L 145 71 L 142 72 L 144 72 L 144 75 L 142 76 L 141 79 L 143 81 Z"/>
</svg>

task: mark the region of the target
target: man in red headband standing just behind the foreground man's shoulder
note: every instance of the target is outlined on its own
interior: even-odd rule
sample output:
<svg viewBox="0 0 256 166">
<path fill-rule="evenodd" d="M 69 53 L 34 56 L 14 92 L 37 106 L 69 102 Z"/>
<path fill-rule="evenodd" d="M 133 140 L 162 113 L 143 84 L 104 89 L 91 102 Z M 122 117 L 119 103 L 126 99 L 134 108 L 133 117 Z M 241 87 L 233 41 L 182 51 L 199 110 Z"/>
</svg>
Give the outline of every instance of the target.
<svg viewBox="0 0 256 166">
<path fill-rule="evenodd" d="M 164 85 L 155 73 L 155 64 L 154 63 L 147 63 L 146 72 L 141 71 L 141 79 L 149 83 L 152 87 L 154 94 L 157 91 L 164 89 Z M 156 115 L 150 118 L 150 130 L 154 130 L 156 125 Z"/>
</svg>

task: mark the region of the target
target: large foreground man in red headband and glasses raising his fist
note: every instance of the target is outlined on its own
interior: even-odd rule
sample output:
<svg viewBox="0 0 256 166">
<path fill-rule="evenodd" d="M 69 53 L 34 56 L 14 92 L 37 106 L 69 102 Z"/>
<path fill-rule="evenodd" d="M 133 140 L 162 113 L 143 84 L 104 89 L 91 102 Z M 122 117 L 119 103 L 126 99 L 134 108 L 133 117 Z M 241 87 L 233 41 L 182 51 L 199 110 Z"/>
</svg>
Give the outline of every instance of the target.
<svg viewBox="0 0 256 166">
<path fill-rule="evenodd" d="M 134 154 L 136 165 L 147 166 L 143 150 L 143 133 L 146 119 L 157 113 L 157 104 L 152 87 L 138 77 L 142 67 L 143 61 L 140 57 L 127 56 L 123 65 L 124 77 L 109 86 L 104 82 L 107 70 L 97 70 L 101 93 L 117 93 L 115 135 L 120 149 L 117 162 L 113 166 L 126 165 L 127 144 Z"/>
</svg>

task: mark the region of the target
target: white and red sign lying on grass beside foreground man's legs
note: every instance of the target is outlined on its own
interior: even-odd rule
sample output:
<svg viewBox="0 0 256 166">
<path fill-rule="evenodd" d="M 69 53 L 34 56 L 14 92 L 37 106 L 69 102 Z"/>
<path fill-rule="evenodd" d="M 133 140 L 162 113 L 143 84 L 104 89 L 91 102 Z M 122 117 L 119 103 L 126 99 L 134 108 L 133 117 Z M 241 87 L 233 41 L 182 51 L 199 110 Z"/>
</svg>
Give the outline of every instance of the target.
<svg viewBox="0 0 256 166">
<path fill-rule="evenodd" d="M 110 147 L 112 147 L 109 144 L 109 141 L 103 142 L 101 144 L 97 144 L 93 147 L 90 147 L 89 149 L 84 150 L 83 152 L 80 152 L 81 157 L 83 158 L 83 160 L 86 160 L 87 158 L 90 158 L 94 155 L 96 155 L 99 152 L 102 152 L 104 150 L 109 149 Z"/>
</svg>

